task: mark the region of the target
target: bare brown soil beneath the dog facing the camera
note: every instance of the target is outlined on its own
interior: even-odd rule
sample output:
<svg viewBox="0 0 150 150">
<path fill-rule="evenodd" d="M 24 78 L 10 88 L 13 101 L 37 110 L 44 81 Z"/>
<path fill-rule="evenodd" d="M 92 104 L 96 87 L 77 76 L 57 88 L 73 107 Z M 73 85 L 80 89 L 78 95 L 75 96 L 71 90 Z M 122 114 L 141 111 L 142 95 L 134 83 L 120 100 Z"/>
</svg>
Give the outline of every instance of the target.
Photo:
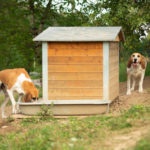
<svg viewBox="0 0 150 150">
<path fill-rule="evenodd" d="M 131 95 L 126 95 L 126 82 L 120 83 L 119 99 L 114 101 L 110 107 L 112 113 L 117 114 L 122 110 L 129 109 L 132 105 L 147 105 L 150 106 L 150 77 L 144 80 L 144 92 L 139 93 L 136 86 L 135 91 Z"/>
</svg>

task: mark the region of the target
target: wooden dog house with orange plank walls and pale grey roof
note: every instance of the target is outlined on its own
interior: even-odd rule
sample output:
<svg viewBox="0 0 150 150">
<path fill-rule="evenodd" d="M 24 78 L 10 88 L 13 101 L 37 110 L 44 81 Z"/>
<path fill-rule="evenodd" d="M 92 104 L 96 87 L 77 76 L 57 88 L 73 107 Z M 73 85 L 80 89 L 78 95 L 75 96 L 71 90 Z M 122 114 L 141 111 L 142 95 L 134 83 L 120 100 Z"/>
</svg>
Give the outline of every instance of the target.
<svg viewBox="0 0 150 150">
<path fill-rule="evenodd" d="M 49 27 L 42 42 L 43 99 L 56 115 L 98 114 L 119 96 L 121 27 Z"/>
</svg>

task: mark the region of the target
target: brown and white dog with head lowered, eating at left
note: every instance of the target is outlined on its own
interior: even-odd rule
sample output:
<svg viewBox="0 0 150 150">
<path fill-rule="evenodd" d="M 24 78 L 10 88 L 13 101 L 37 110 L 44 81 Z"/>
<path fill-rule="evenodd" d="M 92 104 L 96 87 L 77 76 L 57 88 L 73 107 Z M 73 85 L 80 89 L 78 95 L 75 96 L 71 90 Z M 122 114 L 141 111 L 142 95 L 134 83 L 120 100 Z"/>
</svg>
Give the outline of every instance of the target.
<svg viewBox="0 0 150 150">
<path fill-rule="evenodd" d="M 0 71 L 0 89 L 5 94 L 5 100 L 1 105 L 2 118 L 5 116 L 5 106 L 8 100 L 12 103 L 12 113 L 17 113 L 17 103 L 13 92 L 19 94 L 18 102 L 24 96 L 24 102 L 31 102 L 38 99 L 38 90 L 31 81 L 31 78 L 24 68 L 6 69 Z"/>
</svg>

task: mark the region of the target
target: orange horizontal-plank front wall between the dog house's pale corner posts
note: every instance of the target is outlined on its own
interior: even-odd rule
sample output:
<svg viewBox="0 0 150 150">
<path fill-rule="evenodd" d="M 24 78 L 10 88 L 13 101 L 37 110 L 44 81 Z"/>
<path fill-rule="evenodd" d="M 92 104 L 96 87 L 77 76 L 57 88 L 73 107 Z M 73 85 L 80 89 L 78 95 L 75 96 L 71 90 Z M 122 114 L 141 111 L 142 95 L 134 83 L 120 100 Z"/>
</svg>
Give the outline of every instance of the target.
<svg viewBox="0 0 150 150">
<path fill-rule="evenodd" d="M 102 99 L 102 54 L 102 43 L 49 43 L 49 100 Z"/>
</svg>

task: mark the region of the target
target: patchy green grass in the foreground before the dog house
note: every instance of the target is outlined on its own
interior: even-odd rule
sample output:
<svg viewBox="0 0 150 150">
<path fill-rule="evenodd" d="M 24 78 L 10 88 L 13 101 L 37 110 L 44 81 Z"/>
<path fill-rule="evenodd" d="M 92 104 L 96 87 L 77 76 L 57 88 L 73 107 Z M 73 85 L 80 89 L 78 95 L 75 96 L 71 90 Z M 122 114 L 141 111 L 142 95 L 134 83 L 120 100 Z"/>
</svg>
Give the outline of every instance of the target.
<svg viewBox="0 0 150 150">
<path fill-rule="evenodd" d="M 45 108 L 44 108 L 45 110 Z M 23 119 L 18 130 L 0 135 L 0 149 L 3 150 L 97 150 L 111 149 L 105 141 L 115 133 L 130 132 L 139 120 L 150 123 L 150 107 L 133 106 L 120 116 L 90 116 L 84 119 L 70 117 L 58 120 L 47 117 Z M 141 126 L 143 126 L 143 121 Z M 138 123 L 139 127 L 139 123 Z M 150 149 L 149 136 L 135 147 Z M 142 149 L 143 150 L 143 149 Z"/>
</svg>

